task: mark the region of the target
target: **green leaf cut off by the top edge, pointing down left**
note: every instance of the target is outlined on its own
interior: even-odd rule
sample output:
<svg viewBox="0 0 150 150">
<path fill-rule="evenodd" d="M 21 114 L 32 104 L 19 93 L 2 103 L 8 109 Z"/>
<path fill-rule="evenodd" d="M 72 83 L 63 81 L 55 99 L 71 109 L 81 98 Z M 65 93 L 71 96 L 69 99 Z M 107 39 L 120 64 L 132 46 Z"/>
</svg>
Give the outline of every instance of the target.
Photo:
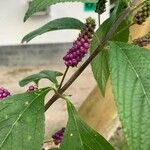
<svg viewBox="0 0 150 150">
<path fill-rule="evenodd" d="M 64 2 L 83 2 L 83 3 L 96 3 L 98 0 L 33 0 L 29 6 L 24 21 L 26 21 L 34 13 L 44 9 L 45 7 Z"/>
</svg>

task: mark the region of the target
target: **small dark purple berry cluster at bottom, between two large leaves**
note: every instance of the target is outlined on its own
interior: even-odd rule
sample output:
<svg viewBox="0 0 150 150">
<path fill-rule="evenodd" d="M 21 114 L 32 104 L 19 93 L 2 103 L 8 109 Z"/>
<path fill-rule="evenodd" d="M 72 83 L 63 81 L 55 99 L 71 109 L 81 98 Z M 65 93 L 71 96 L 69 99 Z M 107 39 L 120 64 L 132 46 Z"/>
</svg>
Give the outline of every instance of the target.
<svg viewBox="0 0 150 150">
<path fill-rule="evenodd" d="M 57 131 L 54 135 L 52 135 L 55 145 L 61 143 L 64 136 L 64 132 L 65 132 L 65 128 L 62 128 L 61 130 Z"/>
</svg>

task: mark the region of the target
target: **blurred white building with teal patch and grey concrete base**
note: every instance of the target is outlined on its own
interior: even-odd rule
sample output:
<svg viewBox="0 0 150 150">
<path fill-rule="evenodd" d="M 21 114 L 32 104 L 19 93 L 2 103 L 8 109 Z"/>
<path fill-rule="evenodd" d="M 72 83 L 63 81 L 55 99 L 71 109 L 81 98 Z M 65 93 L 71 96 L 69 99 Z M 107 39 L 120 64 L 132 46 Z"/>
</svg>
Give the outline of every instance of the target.
<svg viewBox="0 0 150 150">
<path fill-rule="evenodd" d="M 28 44 L 21 44 L 26 34 L 51 20 L 74 17 L 84 22 L 92 16 L 98 26 L 94 3 L 59 3 L 34 14 L 24 23 L 23 18 L 30 4 L 31 0 L 0 1 L 0 66 L 62 64 L 59 56 L 62 57 L 76 39 L 78 30 L 53 31 L 36 37 Z M 109 17 L 112 6 L 107 0 L 101 22 Z"/>
</svg>

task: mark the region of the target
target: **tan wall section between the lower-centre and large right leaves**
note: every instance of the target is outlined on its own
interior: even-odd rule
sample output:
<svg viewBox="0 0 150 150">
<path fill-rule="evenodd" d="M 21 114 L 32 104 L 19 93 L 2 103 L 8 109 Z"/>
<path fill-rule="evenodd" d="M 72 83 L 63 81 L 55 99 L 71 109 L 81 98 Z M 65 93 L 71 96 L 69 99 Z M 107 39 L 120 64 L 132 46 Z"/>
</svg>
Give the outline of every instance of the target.
<svg viewBox="0 0 150 150">
<path fill-rule="evenodd" d="M 107 84 L 105 98 L 101 95 L 99 88 L 95 87 L 80 107 L 79 112 L 87 123 L 105 138 L 111 137 L 116 127 L 119 126 L 119 119 L 110 80 Z"/>
</svg>

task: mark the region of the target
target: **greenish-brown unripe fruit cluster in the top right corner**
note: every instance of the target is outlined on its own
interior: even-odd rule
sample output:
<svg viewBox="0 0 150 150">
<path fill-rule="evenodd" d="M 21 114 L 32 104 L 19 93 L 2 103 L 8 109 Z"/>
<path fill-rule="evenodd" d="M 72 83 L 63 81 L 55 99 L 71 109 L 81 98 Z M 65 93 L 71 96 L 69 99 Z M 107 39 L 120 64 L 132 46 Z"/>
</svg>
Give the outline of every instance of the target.
<svg viewBox="0 0 150 150">
<path fill-rule="evenodd" d="M 150 17 L 150 1 L 146 1 L 144 6 L 136 13 L 134 23 L 141 25 Z"/>
</svg>

